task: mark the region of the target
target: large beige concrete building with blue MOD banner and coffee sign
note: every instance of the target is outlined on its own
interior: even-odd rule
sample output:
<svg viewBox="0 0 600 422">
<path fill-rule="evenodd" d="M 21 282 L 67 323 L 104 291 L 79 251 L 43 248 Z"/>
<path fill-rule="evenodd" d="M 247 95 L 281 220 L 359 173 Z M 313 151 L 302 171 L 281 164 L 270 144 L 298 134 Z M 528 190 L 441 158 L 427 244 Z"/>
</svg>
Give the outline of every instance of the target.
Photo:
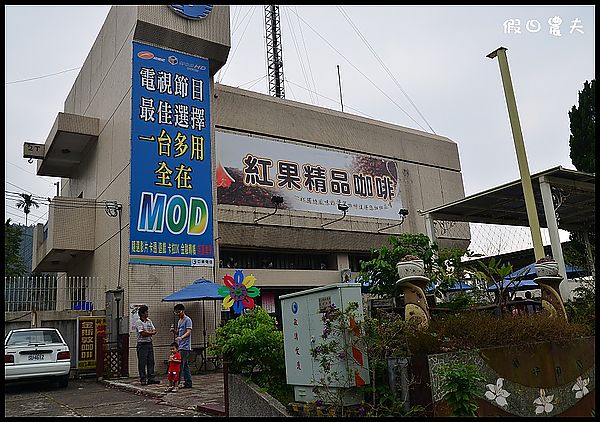
<svg viewBox="0 0 600 422">
<path fill-rule="evenodd" d="M 427 233 L 419 210 L 464 197 L 458 147 L 446 137 L 215 84 L 213 76 L 230 49 L 229 7 L 217 5 L 209 12 L 190 20 L 168 6 L 113 6 L 43 155 L 36 157 L 38 175 L 61 177 L 61 193 L 52 199 L 47 227 L 34 231 L 35 271 L 101 277 L 113 338 L 115 332 L 129 332 L 135 305 L 147 304 L 159 331 L 158 357 L 166 357 L 172 341 L 173 303 L 161 299 L 193 280 L 204 277 L 222 285 L 235 270 L 253 274 L 261 289 L 258 303 L 278 314 L 279 295 L 355 277 L 360 259 L 386 244 L 390 234 Z M 144 78 L 151 71 L 168 73 L 161 66 L 169 63 L 184 77 L 191 75 L 192 87 L 196 82 L 204 89 L 206 127 L 196 132 L 176 120 L 163 122 L 168 130 L 162 132 L 151 121 L 160 120 L 158 112 L 144 117 L 144 104 L 164 99 L 152 97 L 158 95 L 159 80 Z M 203 67 L 206 79 L 194 76 Z M 171 94 L 176 89 L 164 89 L 176 96 Z M 173 102 L 174 108 L 179 105 Z M 161 139 L 169 131 L 173 150 L 166 154 Z M 210 177 L 192 179 L 194 187 L 185 192 L 167 189 L 167 173 L 159 171 L 161 163 L 165 171 L 178 164 L 169 161 L 176 155 L 176 132 L 189 140 L 210 140 L 197 151 L 201 158 L 180 167 L 208 165 L 208 171 L 197 173 Z M 158 148 L 156 160 L 147 160 L 155 167 L 150 169 L 139 150 L 149 144 Z M 185 188 L 186 180 L 177 179 L 178 188 Z M 194 194 L 200 188 L 208 193 Z M 165 210 L 157 204 L 166 197 Z M 208 221 L 200 230 L 205 240 L 197 245 L 187 241 L 194 230 L 192 216 L 187 231 L 177 225 L 182 221 L 177 212 L 184 208 L 163 227 L 160 211 L 173 211 L 171 200 L 180 199 L 182 207 L 190 201 L 190 212 L 193 201 L 207 205 Z M 401 225 L 400 209 L 408 210 Z M 166 228 L 175 241 L 187 236 L 178 250 L 183 255 L 166 256 L 171 243 L 163 244 L 168 250 L 161 247 L 160 237 Z M 448 240 L 456 241 L 468 239 Z M 188 302 L 186 308 L 194 320 L 193 343 L 202 344 L 202 331 L 214 332 L 220 305 L 204 309 Z M 129 344 L 134 373 L 134 335 Z"/>
</svg>

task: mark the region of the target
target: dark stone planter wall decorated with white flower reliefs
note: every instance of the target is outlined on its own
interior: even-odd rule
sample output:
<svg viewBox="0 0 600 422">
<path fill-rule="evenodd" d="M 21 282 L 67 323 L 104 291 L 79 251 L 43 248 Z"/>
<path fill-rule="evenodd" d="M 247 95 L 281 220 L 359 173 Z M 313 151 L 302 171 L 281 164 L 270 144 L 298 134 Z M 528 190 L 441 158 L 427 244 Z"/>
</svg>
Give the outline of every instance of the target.
<svg viewBox="0 0 600 422">
<path fill-rule="evenodd" d="M 439 369 L 451 362 L 470 363 L 483 378 L 477 394 L 479 417 L 590 417 L 596 408 L 595 340 L 591 336 L 430 354 L 429 383 L 418 388 L 431 389 L 432 416 L 450 416 Z M 557 368 L 560 376 L 555 376 Z"/>
</svg>

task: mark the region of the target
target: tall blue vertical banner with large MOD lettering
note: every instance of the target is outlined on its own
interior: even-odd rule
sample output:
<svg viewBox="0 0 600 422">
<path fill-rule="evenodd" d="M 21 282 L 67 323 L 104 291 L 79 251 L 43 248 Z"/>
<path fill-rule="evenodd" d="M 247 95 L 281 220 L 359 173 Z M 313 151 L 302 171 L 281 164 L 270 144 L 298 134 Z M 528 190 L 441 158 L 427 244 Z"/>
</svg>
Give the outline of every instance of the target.
<svg viewBox="0 0 600 422">
<path fill-rule="evenodd" d="M 208 60 L 133 42 L 131 264 L 212 266 Z"/>
</svg>

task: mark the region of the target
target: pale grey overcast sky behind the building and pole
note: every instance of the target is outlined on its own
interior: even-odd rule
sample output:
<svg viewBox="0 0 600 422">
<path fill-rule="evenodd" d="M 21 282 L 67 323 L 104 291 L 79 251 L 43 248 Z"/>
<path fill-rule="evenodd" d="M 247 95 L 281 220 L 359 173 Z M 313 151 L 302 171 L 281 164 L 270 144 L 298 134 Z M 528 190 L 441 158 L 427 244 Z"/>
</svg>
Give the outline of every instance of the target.
<svg viewBox="0 0 600 422">
<path fill-rule="evenodd" d="M 46 141 L 109 9 L 5 6 L 5 191 L 55 195 L 59 179 L 35 175 L 23 142 Z M 216 80 L 267 93 L 264 6 L 230 16 Z M 466 195 L 520 177 L 498 59 L 486 57 L 508 48 L 530 173 L 574 169 L 568 112 L 595 75 L 595 6 L 280 6 L 280 18 L 287 99 L 340 110 L 339 65 L 345 112 L 458 144 Z M 25 221 L 12 199 L 5 214 Z"/>
</svg>

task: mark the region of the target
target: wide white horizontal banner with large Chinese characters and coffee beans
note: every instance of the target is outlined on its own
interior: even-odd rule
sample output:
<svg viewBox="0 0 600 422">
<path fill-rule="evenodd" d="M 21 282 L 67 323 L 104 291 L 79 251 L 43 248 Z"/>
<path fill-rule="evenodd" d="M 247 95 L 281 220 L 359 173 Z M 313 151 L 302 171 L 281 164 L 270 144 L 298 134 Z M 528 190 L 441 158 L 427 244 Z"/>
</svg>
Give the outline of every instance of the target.
<svg viewBox="0 0 600 422">
<path fill-rule="evenodd" d="M 402 208 L 395 161 L 215 131 L 219 204 L 397 219 Z"/>
</svg>

